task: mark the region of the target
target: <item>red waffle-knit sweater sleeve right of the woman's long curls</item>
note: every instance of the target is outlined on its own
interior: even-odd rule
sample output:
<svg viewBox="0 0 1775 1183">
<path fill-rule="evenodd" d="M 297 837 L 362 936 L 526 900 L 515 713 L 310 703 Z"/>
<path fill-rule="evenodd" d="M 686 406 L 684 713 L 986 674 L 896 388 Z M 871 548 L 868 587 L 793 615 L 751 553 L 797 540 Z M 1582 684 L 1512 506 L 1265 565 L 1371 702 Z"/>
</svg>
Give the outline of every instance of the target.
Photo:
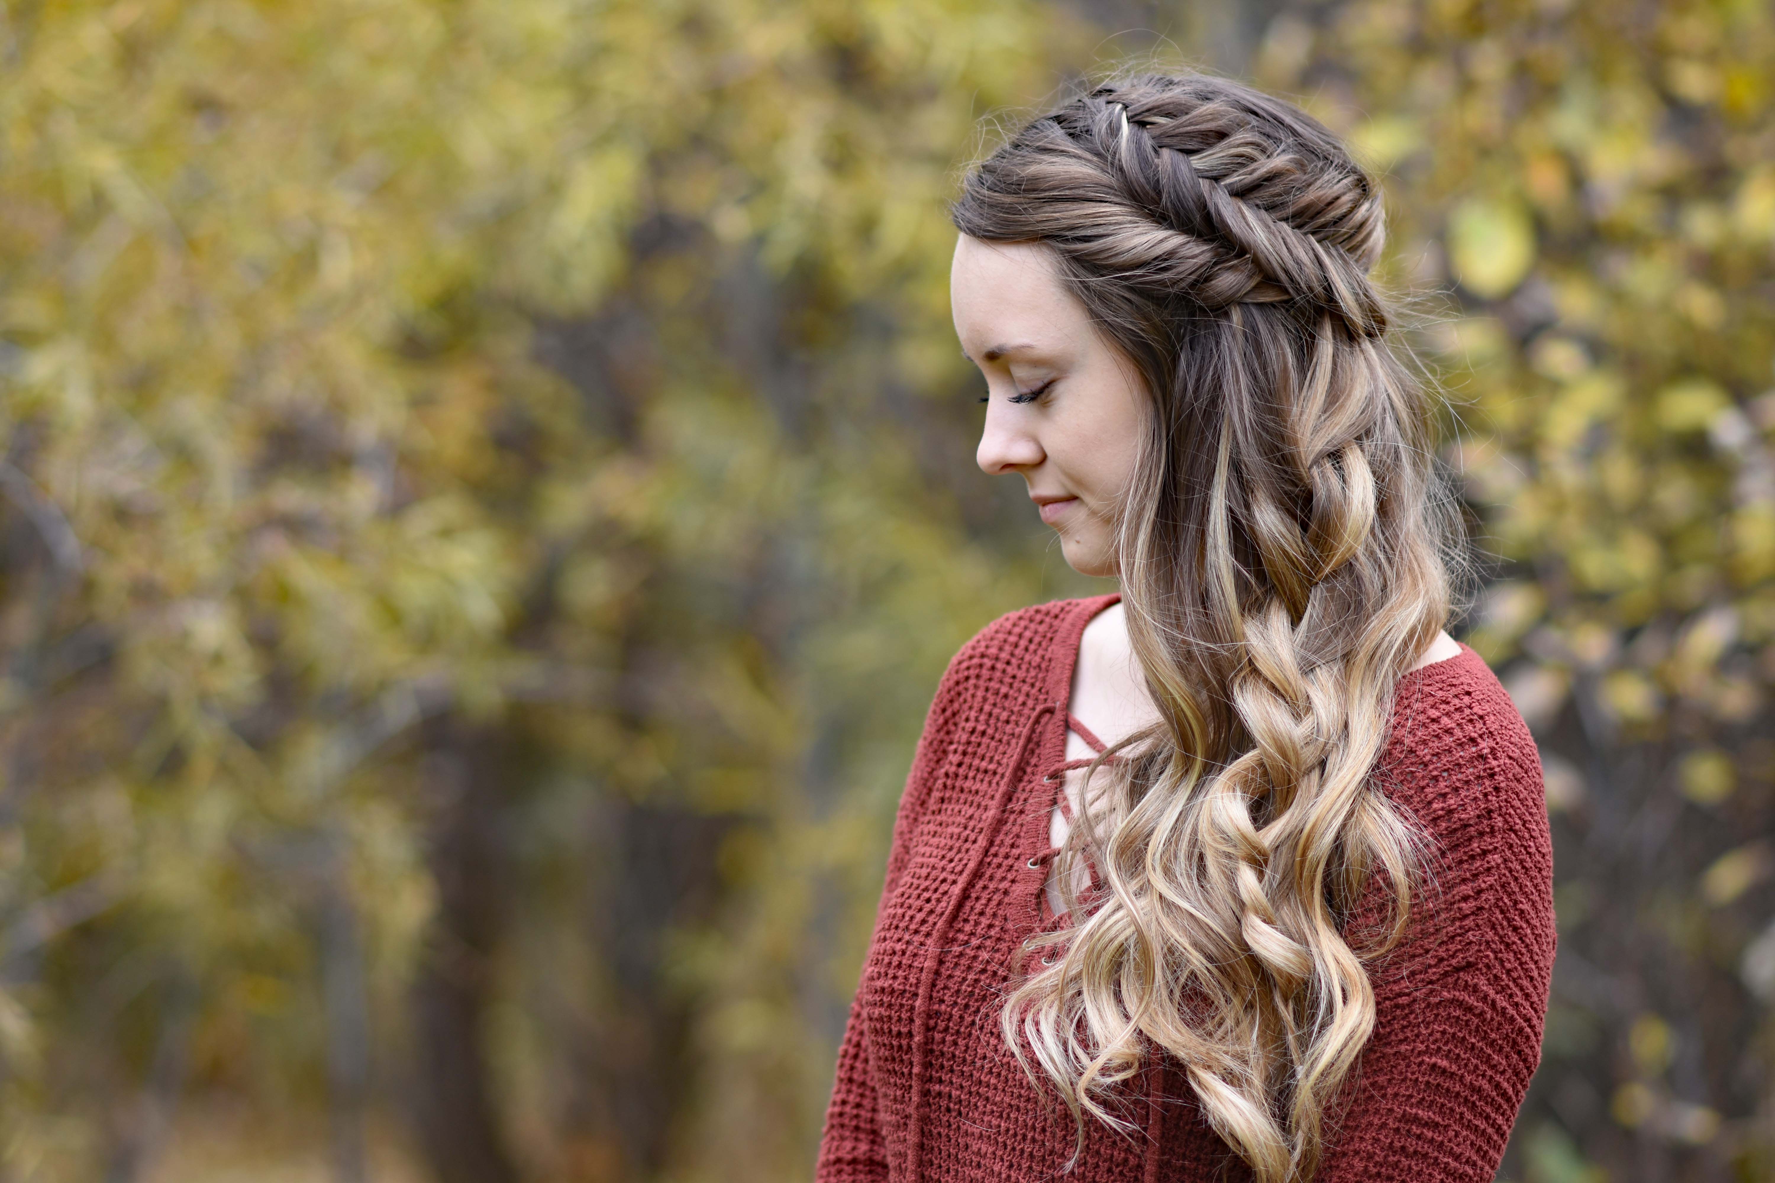
<svg viewBox="0 0 1775 1183">
<path fill-rule="evenodd" d="M 1425 743 L 1395 772 L 1431 874 L 1411 936 L 1376 965 L 1376 1032 L 1319 1183 L 1491 1183 L 1541 1061 L 1553 850 L 1535 743 L 1495 695 L 1416 720 Z"/>
</svg>

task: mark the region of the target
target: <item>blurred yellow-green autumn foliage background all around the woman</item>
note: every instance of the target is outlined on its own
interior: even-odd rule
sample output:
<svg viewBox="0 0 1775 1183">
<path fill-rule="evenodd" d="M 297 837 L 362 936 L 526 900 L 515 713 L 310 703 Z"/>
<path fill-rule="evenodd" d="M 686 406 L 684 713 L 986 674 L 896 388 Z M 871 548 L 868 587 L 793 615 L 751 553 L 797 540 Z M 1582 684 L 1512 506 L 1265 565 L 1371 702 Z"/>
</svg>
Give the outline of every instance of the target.
<svg viewBox="0 0 1775 1183">
<path fill-rule="evenodd" d="M 1775 1178 L 1764 0 L 0 0 L 0 1179 L 808 1178 L 944 662 L 1102 589 L 944 200 L 1129 57 L 1386 177 L 1557 841 L 1503 1176 Z"/>
</svg>

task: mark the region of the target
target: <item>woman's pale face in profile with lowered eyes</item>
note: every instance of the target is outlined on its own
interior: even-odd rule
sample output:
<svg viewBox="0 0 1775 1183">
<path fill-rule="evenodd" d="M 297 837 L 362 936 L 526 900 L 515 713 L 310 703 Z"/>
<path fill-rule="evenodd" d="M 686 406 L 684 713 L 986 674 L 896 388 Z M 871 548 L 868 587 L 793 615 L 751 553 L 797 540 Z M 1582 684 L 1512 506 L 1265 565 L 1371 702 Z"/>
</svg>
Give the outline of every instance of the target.
<svg viewBox="0 0 1775 1183">
<path fill-rule="evenodd" d="M 1067 291 L 1053 250 L 966 234 L 950 266 L 962 353 L 987 378 L 980 468 L 1015 472 L 1083 575 L 1115 575 L 1115 509 L 1134 474 L 1147 397 Z"/>
</svg>

